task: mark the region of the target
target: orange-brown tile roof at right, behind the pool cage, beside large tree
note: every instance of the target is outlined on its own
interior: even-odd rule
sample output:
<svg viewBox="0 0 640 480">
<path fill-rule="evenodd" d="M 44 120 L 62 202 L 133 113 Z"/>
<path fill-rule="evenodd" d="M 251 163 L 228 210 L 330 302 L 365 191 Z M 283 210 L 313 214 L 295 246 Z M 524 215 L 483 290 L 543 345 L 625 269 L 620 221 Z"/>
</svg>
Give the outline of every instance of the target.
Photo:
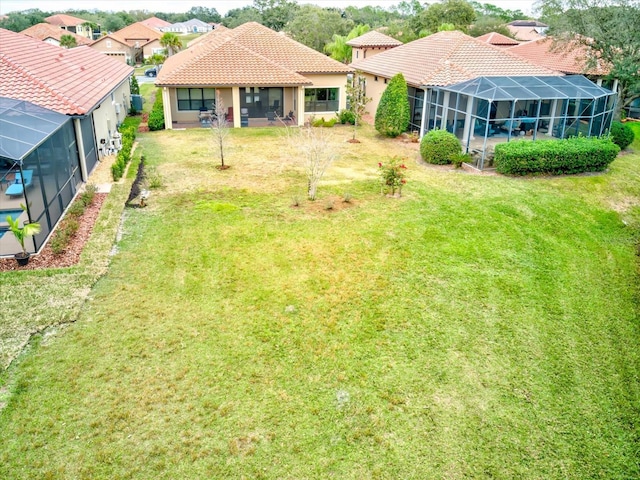
<svg viewBox="0 0 640 480">
<path fill-rule="evenodd" d="M 544 37 L 509 48 L 512 52 L 532 63 L 552 68 L 562 73 L 606 75 L 609 69 L 603 65 L 587 67 L 587 51 L 581 45 L 554 45 L 553 38 Z"/>
</svg>

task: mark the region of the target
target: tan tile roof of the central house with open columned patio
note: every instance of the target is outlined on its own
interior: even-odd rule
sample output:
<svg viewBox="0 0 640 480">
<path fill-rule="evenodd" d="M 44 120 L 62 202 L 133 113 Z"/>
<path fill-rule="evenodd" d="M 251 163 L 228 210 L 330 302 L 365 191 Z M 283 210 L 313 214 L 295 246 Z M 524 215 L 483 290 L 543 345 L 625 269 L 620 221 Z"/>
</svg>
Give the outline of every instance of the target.
<svg viewBox="0 0 640 480">
<path fill-rule="evenodd" d="M 255 22 L 202 38 L 165 61 L 156 85 L 309 85 L 302 74 L 352 71 Z"/>
</svg>

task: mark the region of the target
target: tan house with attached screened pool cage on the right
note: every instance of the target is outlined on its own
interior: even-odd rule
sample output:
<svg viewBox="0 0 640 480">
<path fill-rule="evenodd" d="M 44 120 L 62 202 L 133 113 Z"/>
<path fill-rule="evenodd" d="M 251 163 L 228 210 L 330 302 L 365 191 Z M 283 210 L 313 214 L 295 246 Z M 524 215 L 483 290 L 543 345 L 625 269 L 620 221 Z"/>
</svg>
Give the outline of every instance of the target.
<svg viewBox="0 0 640 480">
<path fill-rule="evenodd" d="M 482 152 L 480 168 L 489 137 L 600 135 L 611 124 L 615 104 L 615 93 L 585 77 L 564 77 L 457 31 L 439 32 L 351 66 L 364 72 L 371 113 L 388 80 L 402 73 L 409 88 L 410 128 L 421 136 L 447 129 L 467 151 Z"/>
</svg>

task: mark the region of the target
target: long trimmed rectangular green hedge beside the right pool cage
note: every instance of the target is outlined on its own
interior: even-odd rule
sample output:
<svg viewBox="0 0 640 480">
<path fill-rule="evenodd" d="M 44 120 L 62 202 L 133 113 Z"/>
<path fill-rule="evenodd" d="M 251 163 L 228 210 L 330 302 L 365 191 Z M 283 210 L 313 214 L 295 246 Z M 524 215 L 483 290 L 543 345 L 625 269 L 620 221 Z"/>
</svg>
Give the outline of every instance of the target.
<svg viewBox="0 0 640 480">
<path fill-rule="evenodd" d="M 514 141 L 496 145 L 494 162 L 499 173 L 509 175 L 599 172 L 619 152 L 620 147 L 608 137 Z"/>
</svg>

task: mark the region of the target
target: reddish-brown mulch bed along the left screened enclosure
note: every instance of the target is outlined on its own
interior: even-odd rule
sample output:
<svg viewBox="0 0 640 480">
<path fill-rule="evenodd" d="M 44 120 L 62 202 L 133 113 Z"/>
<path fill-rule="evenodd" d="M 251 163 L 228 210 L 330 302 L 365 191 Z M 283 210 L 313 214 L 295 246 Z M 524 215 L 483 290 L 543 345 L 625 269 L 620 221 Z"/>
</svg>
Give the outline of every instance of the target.
<svg viewBox="0 0 640 480">
<path fill-rule="evenodd" d="M 11 270 L 39 270 L 42 268 L 64 268 L 77 264 L 80 260 L 82 248 L 91 236 L 93 225 L 98 218 L 98 214 L 100 213 L 100 209 L 102 208 L 102 204 L 106 198 L 106 193 L 96 193 L 93 198 L 93 203 L 86 208 L 82 217 L 78 219 L 80 224 L 78 231 L 73 236 L 63 253 L 60 255 L 54 255 L 49 243 L 47 242 L 47 245 L 45 245 L 39 254 L 31 255 L 29 263 L 24 267 L 19 267 L 14 258 L 0 258 L 0 272 Z M 7 232 L 5 235 L 11 235 L 11 233 Z"/>
</svg>

